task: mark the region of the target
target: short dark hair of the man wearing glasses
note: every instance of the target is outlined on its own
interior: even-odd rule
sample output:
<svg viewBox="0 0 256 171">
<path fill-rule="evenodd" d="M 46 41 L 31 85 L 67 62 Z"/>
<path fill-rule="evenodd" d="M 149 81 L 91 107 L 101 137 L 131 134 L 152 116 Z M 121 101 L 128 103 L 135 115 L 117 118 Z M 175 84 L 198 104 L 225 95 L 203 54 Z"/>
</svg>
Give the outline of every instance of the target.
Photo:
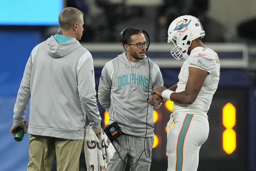
<svg viewBox="0 0 256 171">
<path fill-rule="evenodd" d="M 137 28 L 134 28 L 134 27 L 128 27 L 126 29 L 124 29 L 122 32 L 121 32 L 121 42 L 123 44 L 123 46 L 125 44 L 131 44 L 131 36 L 132 35 L 138 35 L 142 33 L 142 31 L 140 29 L 137 29 Z"/>
</svg>

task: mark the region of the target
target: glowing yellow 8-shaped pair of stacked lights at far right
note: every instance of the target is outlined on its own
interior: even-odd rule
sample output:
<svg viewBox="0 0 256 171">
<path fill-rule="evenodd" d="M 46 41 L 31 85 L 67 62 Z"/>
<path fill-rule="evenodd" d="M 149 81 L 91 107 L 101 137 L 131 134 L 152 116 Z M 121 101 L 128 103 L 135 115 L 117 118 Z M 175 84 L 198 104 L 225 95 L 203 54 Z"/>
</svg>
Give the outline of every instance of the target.
<svg viewBox="0 0 256 171">
<path fill-rule="evenodd" d="M 231 103 L 227 103 L 222 109 L 222 123 L 226 130 L 223 132 L 223 150 L 232 154 L 236 149 L 236 133 L 232 129 L 236 124 L 236 109 Z"/>
</svg>

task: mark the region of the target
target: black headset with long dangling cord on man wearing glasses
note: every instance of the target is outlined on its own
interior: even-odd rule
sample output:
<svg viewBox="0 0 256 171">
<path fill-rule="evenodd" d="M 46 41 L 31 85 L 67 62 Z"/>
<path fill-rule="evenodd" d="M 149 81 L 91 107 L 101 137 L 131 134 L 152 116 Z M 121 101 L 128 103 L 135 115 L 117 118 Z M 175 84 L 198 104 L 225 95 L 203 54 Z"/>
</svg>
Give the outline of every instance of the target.
<svg viewBox="0 0 256 171">
<path fill-rule="evenodd" d="M 123 29 L 123 31 L 121 31 L 121 33 L 120 33 L 120 36 L 119 36 L 119 42 L 125 42 L 125 41 L 127 41 L 127 37 L 125 36 L 125 33 L 129 30 L 130 28 L 125 28 L 125 29 Z M 149 45 L 150 45 L 150 37 L 149 37 L 149 34 L 147 33 L 147 31 L 145 31 L 145 30 L 142 30 L 142 33 L 144 33 L 146 36 L 147 36 L 147 38 L 148 38 L 148 40 L 149 40 L 149 44 L 147 45 L 147 48 L 146 48 L 146 55 L 147 55 L 147 50 L 149 49 Z M 149 57 L 148 57 L 148 55 L 147 55 L 147 60 L 148 60 L 148 62 L 149 62 Z M 151 73 L 150 73 L 150 63 L 149 63 L 149 85 L 150 85 L 150 76 L 151 76 Z M 149 86 L 148 86 L 148 90 L 147 90 L 147 101 L 149 100 Z M 149 104 L 147 104 L 147 116 L 148 116 L 148 111 L 149 111 Z M 108 126 L 108 125 L 107 125 Z M 112 128 L 112 126 L 110 126 L 111 128 Z M 115 127 L 114 127 L 115 128 Z M 120 130 L 121 131 L 121 130 Z M 120 135 L 121 135 L 122 133 L 120 133 Z M 120 135 L 118 135 L 118 136 L 120 136 Z M 145 142 L 146 142 L 146 136 L 147 136 L 147 121 L 146 121 L 146 133 L 145 133 L 145 138 L 144 138 L 144 150 L 142 151 L 142 153 L 140 154 L 140 157 L 141 157 L 141 155 L 143 154 L 143 152 L 145 152 L 145 156 L 148 158 L 148 157 L 150 157 L 150 155 L 151 155 L 151 153 L 150 153 L 150 150 L 149 149 L 146 149 L 145 148 Z M 118 141 L 118 139 L 117 139 L 117 137 L 114 137 L 114 140 L 119 144 L 119 141 Z M 113 141 L 114 141 L 113 140 Z M 120 144 L 119 144 L 120 145 Z M 114 145 L 113 145 L 114 146 Z M 120 146 L 121 147 L 121 146 Z M 114 148 L 116 149 L 116 147 L 114 146 Z M 122 150 L 122 149 L 121 149 Z M 119 152 L 121 152 L 121 150 L 119 151 Z M 149 151 L 149 156 L 146 154 L 146 150 L 148 150 Z M 118 150 L 116 149 L 116 151 L 118 152 Z M 123 161 L 123 162 L 125 162 L 122 158 L 121 158 L 121 156 L 120 156 L 120 154 L 119 154 L 119 152 L 118 152 L 118 155 L 119 155 L 119 157 L 120 157 L 120 159 Z M 138 162 L 138 160 L 140 159 L 140 157 L 137 159 L 137 161 L 135 162 L 135 163 L 133 163 L 133 164 L 127 164 L 126 162 L 126 165 L 128 165 L 128 166 L 132 166 L 132 165 L 134 165 L 134 164 L 136 164 L 137 162 Z"/>
</svg>

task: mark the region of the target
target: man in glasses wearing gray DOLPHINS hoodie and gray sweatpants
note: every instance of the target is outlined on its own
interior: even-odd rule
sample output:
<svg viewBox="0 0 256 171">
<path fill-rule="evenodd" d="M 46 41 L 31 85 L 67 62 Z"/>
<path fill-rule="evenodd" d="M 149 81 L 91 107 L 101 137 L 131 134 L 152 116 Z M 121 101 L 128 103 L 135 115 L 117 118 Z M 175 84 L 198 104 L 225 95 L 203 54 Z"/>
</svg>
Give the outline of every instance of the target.
<svg viewBox="0 0 256 171">
<path fill-rule="evenodd" d="M 120 41 L 126 52 L 107 62 L 99 83 L 99 102 L 109 112 L 109 124 L 123 134 L 113 145 L 116 153 L 107 171 L 149 171 L 154 140 L 154 107 L 147 104 L 154 86 L 163 85 L 159 67 L 147 57 L 149 42 L 137 28 L 126 28 Z M 155 106 L 159 108 L 160 105 Z"/>
</svg>

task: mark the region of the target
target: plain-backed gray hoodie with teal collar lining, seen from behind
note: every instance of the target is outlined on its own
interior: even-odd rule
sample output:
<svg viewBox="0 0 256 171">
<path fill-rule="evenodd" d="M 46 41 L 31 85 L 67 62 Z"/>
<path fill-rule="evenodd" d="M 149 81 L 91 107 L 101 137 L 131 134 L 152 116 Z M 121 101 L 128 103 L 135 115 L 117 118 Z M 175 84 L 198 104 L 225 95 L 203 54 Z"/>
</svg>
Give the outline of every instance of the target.
<svg viewBox="0 0 256 171">
<path fill-rule="evenodd" d="M 33 48 L 14 106 L 16 126 L 29 97 L 33 135 L 81 140 L 85 113 L 93 129 L 100 128 L 92 55 L 75 38 L 55 35 Z"/>
</svg>

